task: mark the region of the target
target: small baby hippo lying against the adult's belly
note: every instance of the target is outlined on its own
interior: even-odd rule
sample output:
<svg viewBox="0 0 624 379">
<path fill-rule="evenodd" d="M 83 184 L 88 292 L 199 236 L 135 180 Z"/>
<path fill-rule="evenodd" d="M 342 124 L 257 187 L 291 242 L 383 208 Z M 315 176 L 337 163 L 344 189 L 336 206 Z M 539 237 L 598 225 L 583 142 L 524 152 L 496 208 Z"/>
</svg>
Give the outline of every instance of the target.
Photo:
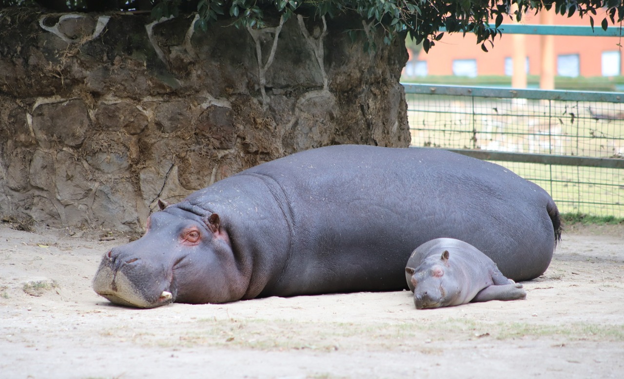
<svg viewBox="0 0 624 379">
<path fill-rule="evenodd" d="M 412 252 L 405 272 L 416 309 L 527 296 L 522 284 L 507 279 L 492 259 L 459 239 L 425 242 Z"/>
</svg>

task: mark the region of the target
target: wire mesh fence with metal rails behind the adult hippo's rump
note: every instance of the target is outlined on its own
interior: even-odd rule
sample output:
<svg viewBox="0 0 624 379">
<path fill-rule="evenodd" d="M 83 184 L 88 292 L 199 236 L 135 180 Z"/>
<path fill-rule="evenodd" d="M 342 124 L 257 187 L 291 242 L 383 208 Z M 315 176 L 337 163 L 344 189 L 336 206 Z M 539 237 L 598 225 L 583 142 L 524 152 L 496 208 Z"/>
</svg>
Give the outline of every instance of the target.
<svg viewBox="0 0 624 379">
<path fill-rule="evenodd" d="M 506 166 L 562 213 L 624 218 L 624 93 L 404 87 L 412 146 Z"/>
</svg>

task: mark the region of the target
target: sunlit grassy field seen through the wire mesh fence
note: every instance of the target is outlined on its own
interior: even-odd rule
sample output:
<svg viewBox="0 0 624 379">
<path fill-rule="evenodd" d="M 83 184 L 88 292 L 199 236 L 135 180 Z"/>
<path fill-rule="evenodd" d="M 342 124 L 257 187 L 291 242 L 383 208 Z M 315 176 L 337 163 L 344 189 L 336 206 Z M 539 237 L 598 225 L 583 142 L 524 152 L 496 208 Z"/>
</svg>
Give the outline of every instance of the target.
<svg viewBox="0 0 624 379">
<path fill-rule="evenodd" d="M 622 103 L 406 97 L 412 146 L 594 158 L 624 155 L 624 120 L 596 120 L 590 114 L 590 108 L 608 114 L 624 112 Z M 555 199 L 560 213 L 624 218 L 624 170 L 495 163 L 542 186 Z"/>
</svg>

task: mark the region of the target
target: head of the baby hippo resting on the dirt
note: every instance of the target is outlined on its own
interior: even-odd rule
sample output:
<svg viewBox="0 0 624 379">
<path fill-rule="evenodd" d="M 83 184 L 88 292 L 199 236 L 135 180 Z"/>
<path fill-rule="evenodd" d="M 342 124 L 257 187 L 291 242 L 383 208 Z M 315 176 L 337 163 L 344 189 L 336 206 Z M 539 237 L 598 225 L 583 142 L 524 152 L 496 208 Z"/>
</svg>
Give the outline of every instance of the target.
<svg viewBox="0 0 624 379">
<path fill-rule="evenodd" d="M 459 291 L 457 285 L 447 279 L 449 268 L 449 252 L 441 256 L 427 257 L 416 269 L 406 267 L 414 287 L 414 305 L 416 309 L 445 307 Z"/>
</svg>

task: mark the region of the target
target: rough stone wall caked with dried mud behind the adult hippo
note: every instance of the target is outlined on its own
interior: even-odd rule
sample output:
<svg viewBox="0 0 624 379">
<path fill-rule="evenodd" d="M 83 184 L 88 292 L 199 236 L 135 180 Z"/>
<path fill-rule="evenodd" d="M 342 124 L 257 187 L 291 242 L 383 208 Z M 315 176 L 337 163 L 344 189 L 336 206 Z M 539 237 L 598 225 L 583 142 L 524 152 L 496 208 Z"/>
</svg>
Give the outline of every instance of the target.
<svg viewBox="0 0 624 379">
<path fill-rule="evenodd" d="M 364 52 L 333 21 L 0 15 L 0 216 L 140 231 L 168 202 L 324 145 L 409 144 L 402 41 Z"/>
</svg>

